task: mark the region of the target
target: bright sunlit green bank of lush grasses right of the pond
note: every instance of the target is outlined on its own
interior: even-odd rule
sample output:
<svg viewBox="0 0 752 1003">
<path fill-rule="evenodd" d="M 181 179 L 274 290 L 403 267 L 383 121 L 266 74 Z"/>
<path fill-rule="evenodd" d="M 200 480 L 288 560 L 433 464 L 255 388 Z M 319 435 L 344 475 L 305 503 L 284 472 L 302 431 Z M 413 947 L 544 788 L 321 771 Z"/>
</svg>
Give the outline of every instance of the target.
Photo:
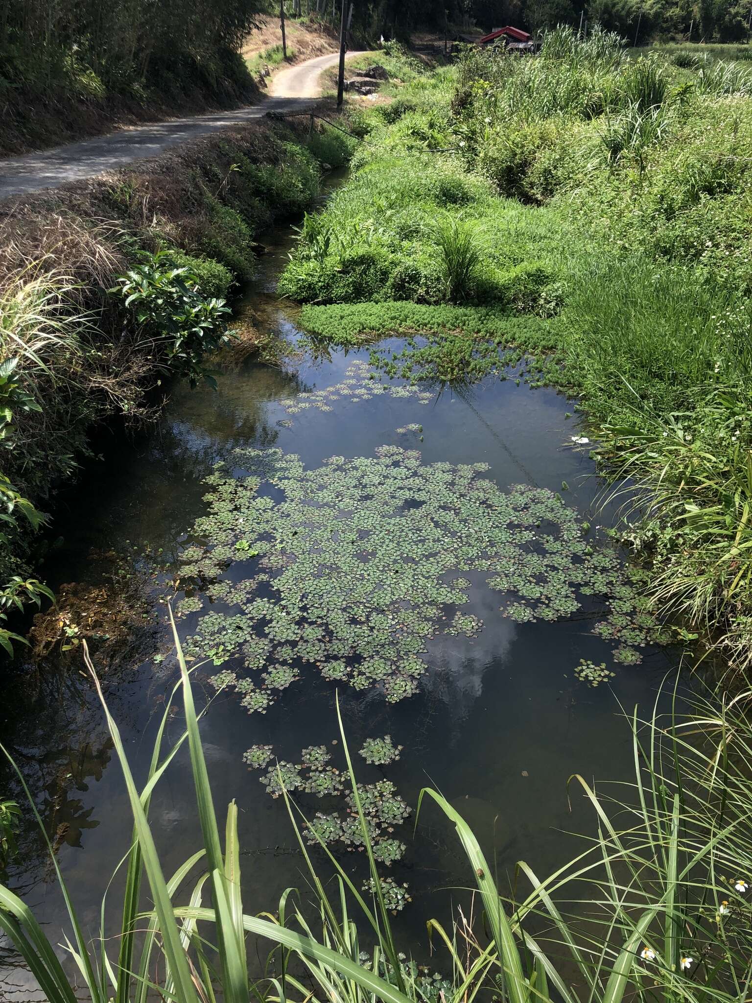
<svg viewBox="0 0 752 1003">
<path fill-rule="evenodd" d="M 657 607 L 745 663 L 752 79 L 569 30 L 395 75 L 281 291 L 332 341 L 429 334 L 387 372 L 478 375 L 508 346 L 581 396 L 604 468 L 644 488 L 624 529 Z"/>
</svg>

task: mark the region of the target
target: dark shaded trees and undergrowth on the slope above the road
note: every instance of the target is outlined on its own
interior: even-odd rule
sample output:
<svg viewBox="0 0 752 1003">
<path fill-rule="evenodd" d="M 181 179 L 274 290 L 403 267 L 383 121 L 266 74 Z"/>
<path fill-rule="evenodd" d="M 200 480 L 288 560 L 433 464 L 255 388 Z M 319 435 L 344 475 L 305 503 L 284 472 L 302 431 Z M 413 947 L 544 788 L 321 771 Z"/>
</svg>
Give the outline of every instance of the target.
<svg viewBox="0 0 752 1003">
<path fill-rule="evenodd" d="M 256 0 L 0 2 L 0 155 L 113 119 L 237 103 Z"/>
</svg>

